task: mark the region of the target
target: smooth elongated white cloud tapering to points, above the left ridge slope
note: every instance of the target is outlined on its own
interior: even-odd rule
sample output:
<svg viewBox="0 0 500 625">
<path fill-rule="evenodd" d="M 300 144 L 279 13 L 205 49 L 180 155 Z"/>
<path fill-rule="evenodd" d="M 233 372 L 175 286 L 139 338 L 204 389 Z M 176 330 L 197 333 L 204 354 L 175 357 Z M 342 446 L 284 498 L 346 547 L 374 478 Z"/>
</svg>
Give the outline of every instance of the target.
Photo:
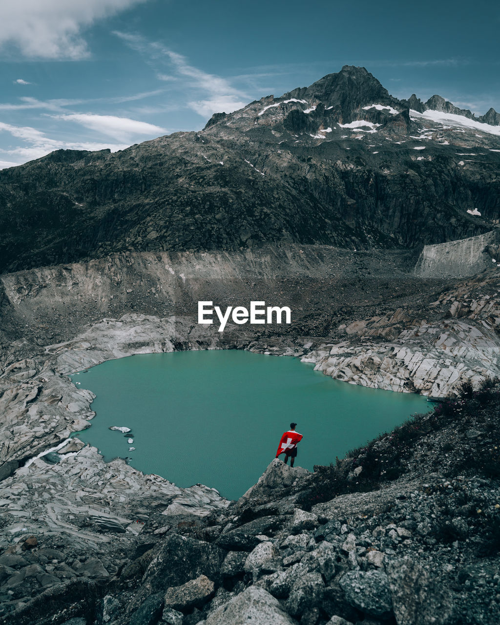
<svg viewBox="0 0 500 625">
<path fill-rule="evenodd" d="M 166 134 L 166 129 L 148 124 L 136 119 L 120 118 L 114 115 L 96 115 L 94 113 L 69 113 L 66 115 L 53 115 L 56 119 L 64 121 L 74 121 L 85 128 L 106 134 L 118 141 L 130 141 L 136 135 Z"/>
</svg>

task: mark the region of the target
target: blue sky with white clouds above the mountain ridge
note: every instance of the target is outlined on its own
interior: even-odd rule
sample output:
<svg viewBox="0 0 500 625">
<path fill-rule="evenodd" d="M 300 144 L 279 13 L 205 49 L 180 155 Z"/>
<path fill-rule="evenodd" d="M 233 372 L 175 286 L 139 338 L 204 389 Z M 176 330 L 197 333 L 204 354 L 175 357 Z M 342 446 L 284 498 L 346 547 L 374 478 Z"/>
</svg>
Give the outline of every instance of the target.
<svg viewBox="0 0 500 625">
<path fill-rule="evenodd" d="M 345 64 L 500 111 L 499 27 L 491 0 L 3 1 L 0 168 L 199 130 Z"/>
</svg>

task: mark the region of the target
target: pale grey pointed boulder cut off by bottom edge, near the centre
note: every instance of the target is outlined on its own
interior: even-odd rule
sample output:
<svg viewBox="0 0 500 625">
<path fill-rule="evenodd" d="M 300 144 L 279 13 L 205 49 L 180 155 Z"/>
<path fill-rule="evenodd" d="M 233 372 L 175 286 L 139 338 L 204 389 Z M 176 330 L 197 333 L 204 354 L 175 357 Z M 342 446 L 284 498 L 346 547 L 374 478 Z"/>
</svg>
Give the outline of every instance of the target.
<svg viewBox="0 0 500 625">
<path fill-rule="evenodd" d="M 205 625 L 294 625 L 277 599 L 257 586 L 249 586 L 209 614 Z"/>
</svg>

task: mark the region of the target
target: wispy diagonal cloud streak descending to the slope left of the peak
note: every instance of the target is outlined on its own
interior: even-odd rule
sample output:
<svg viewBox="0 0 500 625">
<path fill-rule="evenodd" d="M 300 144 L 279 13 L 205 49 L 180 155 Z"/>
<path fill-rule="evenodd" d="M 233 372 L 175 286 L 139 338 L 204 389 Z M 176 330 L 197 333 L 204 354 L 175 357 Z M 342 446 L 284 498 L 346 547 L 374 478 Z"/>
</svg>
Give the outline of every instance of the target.
<svg viewBox="0 0 500 625">
<path fill-rule="evenodd" d="M 157 78 L 161 81 L 186 79 L 187 84 L 183 85 L 184 88 L 191 89 L 192 95 L 195 96 L 186 104 L 204 118 L 222 111 L 232 113 L 244 107 L 250 99 L 248 94 L 234 88 L 226 78 L 195 68 L 188 63 L 185 56 L 173 52 L 159 42 L 150 42 L 144 37 L 127 32 L 114 31 L 114 34 L 128 46 L 147 56 L 149 63 L 158 64 L 161 61 L 169 63 L 171 71 L 176 75 L 157 72 Z"/>
</svg>

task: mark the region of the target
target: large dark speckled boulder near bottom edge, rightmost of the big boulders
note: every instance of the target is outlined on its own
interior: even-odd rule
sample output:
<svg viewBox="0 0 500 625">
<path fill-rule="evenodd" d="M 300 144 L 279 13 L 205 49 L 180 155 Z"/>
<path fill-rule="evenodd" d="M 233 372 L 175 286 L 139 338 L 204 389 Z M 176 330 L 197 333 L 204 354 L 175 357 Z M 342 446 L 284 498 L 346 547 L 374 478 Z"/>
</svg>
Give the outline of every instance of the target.
<svg viewBox="0 0 500 625">
<path fill-rule="evenodd" d="M 368 614 L 387 618 L 392 612 L 389 579 L 382 571 L 349 571 L 339 580 L 346 601 Z M 401 625 L 398 621 L 398 625 Z"/>
</svg>

